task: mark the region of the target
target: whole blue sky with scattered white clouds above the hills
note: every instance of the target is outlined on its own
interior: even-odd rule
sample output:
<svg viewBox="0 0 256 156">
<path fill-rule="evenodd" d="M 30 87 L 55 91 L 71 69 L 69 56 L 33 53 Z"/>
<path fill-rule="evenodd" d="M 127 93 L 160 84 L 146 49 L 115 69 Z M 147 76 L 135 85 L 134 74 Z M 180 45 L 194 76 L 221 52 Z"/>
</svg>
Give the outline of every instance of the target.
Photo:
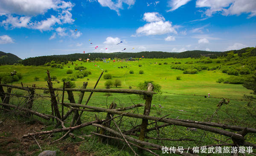
<svg viewBox="0 0 256 156">
<path fill-rule="evenodd" d="M 256 0 L 0 1 L 0 51 L 20 58 L 226 51 L 256 46 L 255 28 Z"/>
</svg>

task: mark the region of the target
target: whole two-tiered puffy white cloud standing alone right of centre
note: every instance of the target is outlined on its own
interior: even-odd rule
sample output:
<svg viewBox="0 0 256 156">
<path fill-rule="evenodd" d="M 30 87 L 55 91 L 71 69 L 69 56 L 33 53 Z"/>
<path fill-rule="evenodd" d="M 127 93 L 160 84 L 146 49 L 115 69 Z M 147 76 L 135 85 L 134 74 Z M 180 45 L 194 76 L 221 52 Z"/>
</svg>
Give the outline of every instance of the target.
<svg viewBox="0 0 256 156">
<path fill-rule="evenodd" d="M 137 35 L 163 35 L 166 33 L 177 34 L 172 22 L 164 21 L 164 17 L 158 12 L 147 12 L 143 16 L 143 20 L 150 22 L 136 30 Z"/>
</svg>

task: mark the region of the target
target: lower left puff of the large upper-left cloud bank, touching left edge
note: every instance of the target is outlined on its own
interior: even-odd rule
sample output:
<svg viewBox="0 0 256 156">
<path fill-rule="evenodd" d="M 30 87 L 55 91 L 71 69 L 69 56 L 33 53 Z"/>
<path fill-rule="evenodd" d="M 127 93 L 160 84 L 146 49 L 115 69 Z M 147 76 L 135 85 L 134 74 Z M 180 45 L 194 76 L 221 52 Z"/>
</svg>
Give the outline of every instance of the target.
<svg viewBox="0 0 256 156">
<path fill-rule="evenodd" d="M 3 20 L 1 25 L 3 25 L 6 29 L 8 29 L 9 25 L 12 28 L 21 28 L 28 27 L 30 17 L 22 16 L 22 17 L 13 17 L 12 15 L 7 15 L 7 19 Z"/>
</svg>

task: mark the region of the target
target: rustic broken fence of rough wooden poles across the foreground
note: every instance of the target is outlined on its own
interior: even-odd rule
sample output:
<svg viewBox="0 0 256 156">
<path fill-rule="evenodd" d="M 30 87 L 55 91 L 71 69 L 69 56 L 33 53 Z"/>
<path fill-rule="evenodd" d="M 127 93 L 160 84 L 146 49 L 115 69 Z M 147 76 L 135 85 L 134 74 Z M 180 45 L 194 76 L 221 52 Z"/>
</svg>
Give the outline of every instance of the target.
<svg viewBox="0 0 256 156">
<path fill-rule="evenodd" d="M 166 118 L 166 116 L 163 117 L 156 117 L 156 116 L 150 116 L 150 109 L 151 109 L 151 101 L 152 97 L 155 92 L 154 86 L 149 83 L 147 91 L 145 90 L 122 90 L 122 89 L 96 89 L 96 86 L 102 76 L 103 72 L 101 73 L 98 81 L 96 82 L 96 85 L 93 89 L 87 89 L 87 82 L 83 84 L 81 89 L 71 89 L 69 82 L 64 82 L 63 88 L 53 88 L 52 82 L 50 78 L 50 73 L 47 71 L 48 75 L 48 88 L 44 87 L 35 87 L 33 85 L 32 87 L 24 87 L 23 84 L 21 86 L 14 86 L 14 85 L 7 85 L 7 84 L 1 84 L 0 83 L 0 96 L 2 99 L 2 107 L 0 107 L 3 111 L 12 112 L 13 110 L 20 110 L 26 112 L 26 115 L 31 116 L 35 115 L 40 118 L 43 118 L 45 120 L 50 120 L 52 118 L 52 121 L 55 119 L 57 124 L 55 126 L 55 129 L 48 130 L 48 131 L 41 131 L 41 132 L 35 132 L 35 133 L 28 133 L 23 136 L 23 138 L 26 137 L 33 137 L 33 136 L 39 136 L 42 134 L 49 134 L 49 133 L 58 133 L 58 132 L 66 132 L 60 139 L 55 140 L 53 142 L 57 142 L 61 139 L 63 139 L 65 136 L 75 136 L 72 131 L 86 127 L 89 125 L 95 126 L 100 128 L 98 132 L 91 132 L 93 135 L 99 136 L 99 140 L 104 142 L 106 138 L 119 140 L 122 142 L 125 142 L 128 147 L 131 148 L 131 150 L 134 152 L 134 155 L 138 155 L 133 147 L 137 147 L 140 149 L 140 155 L 143 150 L 148 151 L 156 156 L 158 156 L 157 153 L 154 152 L 154 150 L 163 150 L 163 144 L 155 144 L 151 142 L 146 142 L 145 138 L 148 138 L 146 133 L 149 131 L 157 131 L 160 128 L 171 126 L 171 125 L 177 125 L 182 127 L 189 127 L 189 128 L 197 128 L 201 129 L 207 132 L 220 134 L 223 136 L 230 137 L 232 139 L 233 143 L 227 144 L 212 144 L 212 145 L 206 145 L 205 147 L 216 147 L 216 146 L 233 146 L 233 147 L 240 147 L 240 146 L 250 146 L 256 149 L 256 144 L 246 142 L 244 139 L 244 136 L 247 135 L 247 133 L 256 133 L 256 129 L 254 128 L 247 128 L 247 127 L 239 127 L 239 126 L 233 126 L 233 125 L 227 125 L 227 124 L 220 124 L 215 122 L 204 122 L 204 121 L 192 121 L 192 120 L 184 120 L 184 119 L 177 119 L 177 118 Z M 4 91 L 3 87 L 7 88 L 6 91 Z M 19 90 L 25 90 L 28 92 L 27 96 L 24 95 L 16 95 L 12 94 L 12 89 L 19 89 Z M 50 93 L 50 96 L 48 98 L 51 98 L 51 108 L 52 113 L 51 114 L 44 114 L 37 112 L 35 110 L 32 110 L 33 106 L 33 99 L 36 94 L 36 90 L 48 90 Z M 62 91 L 62 99 L 60 100 L 56 99 L 55 91 Z M 69 103 L 64 102 L 64 92 L 67 92 Z M 79 100 L 75 101 L 73 92 L 80 92 L 79 93 Z M 86 101 L 85 104 L 82 104 L 82 100 L 84 98 L 84 92 L 90 92 L 90 95 Z M 116 104 L 112 102 L 110 107 L 108 109 L 102 108 L 102 107 L 95 107 L 95 106 L 89 106 L 88 101 L 90 100 L 90 97 L 92 96 L 93 92 L 108 92 L 108 93 L 127 93 L 127 94 L 137 94 L 137 95 L 143 95 L 145 99 L 145 104 L 135 104 L 128 107 L 118 108 L 116 109 Z M 26 106 L 19 106 L 14 104 L 9 104 L 9 100 L 11 96 L 21 96 L 23 98 L 26 98 Z M 47 96 L 46 96 L 47 97 Z M 225 102 L 225 100 L 224 100 Z M 59 109 L 61 107 L 61 109 Z M 64 114 L 64 107 L 69 108 L 70 110 L 67 111 L 66 114 Z M 144 113 L 143 114 L 135 114 L 135 113 L 129 113 L 125 112 L 125 110 L 131 110 L 137 107 L 144 107 Z M 60 111 L 61 110 L 61 111 Z M 87 112 L 105 112 L 107 113 L 107 116 L 105 119 L 99 119 L 95 115 L 94 121 L 89 121 L 82 123 L 81 122 L 81 116 L 84 111 Z M 68 116 L 73 114 L 70 127 L 66 127 L 64 125 L 64 121 L 67 119 Z M 116 115 L 116 116 L 115 116 Z M 141 124 L 135 125 L 130 130 L 122 131 L 120 130 L 119 126 L 116 124 L 115 119 L 116 118 L 122 118 L 122 116 L 128 116 L 131 118 L 140 118 L 142 119 Z M 153 123 L 159 123 L 157 126 L 153 128 L 148 128 L 148 120 L 154 121 Z M 111 122 L 116 127 L 116 130 L 111 129 Z M 163 123 L 163 124 L 160 124 Z M 152 123 L 151 123 L 152 124 Z M 61 126 L 61 128 L 58 128 Z M 106 134 L 106 131 L 109 133 L 114 134 L 115 136 L 109 136 Z M 130 135 L 130 136 L 128 136 Z M 134 136 L 134 137 L 131 137 Z M 78 136 L 79 137 L 79 136 Z M 80 137 L 81 138 L 81 137 Z M 81 138 L 83 139 L 83 138 Z M 157 139 L 157 140 L 170 140 L 173 141 L 174 139 L 169 138 L 149 138 L 149 139 Z M 177 139 L 176 141 L 189 141 L 189 139 Z M 53 143 L 52 142 L 52 143 Z M 184 149 L 188 152 L 182 152 L 182 151 L 176 151 L 176 154 L 183 155 L 183 156 L 195 156 L 196 153 L 193 153 L 193 150 L 191 147 Z M 253 154 L 253 153 L 252 153 Z M 233 155 L 238 155 L 238 153 L 234 153 Z"/>
</svg>

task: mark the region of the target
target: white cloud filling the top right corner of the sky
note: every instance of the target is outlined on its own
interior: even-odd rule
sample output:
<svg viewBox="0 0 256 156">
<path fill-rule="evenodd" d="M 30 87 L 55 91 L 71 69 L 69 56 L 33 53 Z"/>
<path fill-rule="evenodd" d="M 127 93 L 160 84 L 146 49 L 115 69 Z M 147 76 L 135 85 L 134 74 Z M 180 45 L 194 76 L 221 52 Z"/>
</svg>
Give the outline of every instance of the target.
<svg viewBox="0 0 256 156">
<path fill-rule="evenodd" d="M 226 16 L 242 13 L 250 13 L 249 17 L 256 16 L 255 0 L 197 0 L 196 7 L 209 8 L 204 12 L 207 16 L 217 12 Z"/>
</svg>

